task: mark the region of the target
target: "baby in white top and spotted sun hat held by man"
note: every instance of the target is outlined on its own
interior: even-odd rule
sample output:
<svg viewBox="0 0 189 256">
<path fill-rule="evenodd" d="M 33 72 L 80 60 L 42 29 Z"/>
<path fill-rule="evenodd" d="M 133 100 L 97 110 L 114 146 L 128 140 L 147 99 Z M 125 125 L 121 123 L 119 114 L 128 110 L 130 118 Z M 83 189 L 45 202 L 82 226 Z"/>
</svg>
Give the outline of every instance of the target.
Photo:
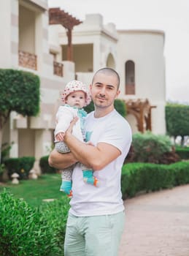
<svg viewBox="0 0 189 256">
<path fill-rule="evenodd" d="M 63 142 L 63 136 L 66 129 L 69 128 L 70 122 L 74 117 L 78 116 L 78 120 L 72 129 L 72 134 L 81 141 L 85 141 L 85 117 L 87 113 L 83 109 L 91 101 L 89 91 L 86 86 L 78 81 L 72 80 L 66 84 L 63 91 L 62 102 L 56 113 L 55 127 L 55 149 L 60 153 L 69 153 L 70 150 L 66 143 Z M 61 191 L 65 192 L 68 197 L 72 197 L 72 172 L 74 165 L 61 170 Z M 99 181 L 93 176 L 93 170 L 90 170 L 85 165 L 82 165 L 83 181 L 87 184 L 99 186 Z"/>
</svg>

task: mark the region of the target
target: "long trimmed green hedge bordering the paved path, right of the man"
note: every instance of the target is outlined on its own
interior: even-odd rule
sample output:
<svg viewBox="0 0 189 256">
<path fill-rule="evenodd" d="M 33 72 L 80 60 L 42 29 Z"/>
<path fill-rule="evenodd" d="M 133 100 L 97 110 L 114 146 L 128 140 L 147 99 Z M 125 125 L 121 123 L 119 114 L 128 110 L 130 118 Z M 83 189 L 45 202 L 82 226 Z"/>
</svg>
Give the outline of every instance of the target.
<svg viewBox="0 0 189 256">
<path fill-rule="evenodd" d="M 123 198 L 134 197 L 138 192 L 167 189 L 189 183 L 189 162 L 171 165 L 128 163 L 123 165 L 121 187 Z"/>
</svg>

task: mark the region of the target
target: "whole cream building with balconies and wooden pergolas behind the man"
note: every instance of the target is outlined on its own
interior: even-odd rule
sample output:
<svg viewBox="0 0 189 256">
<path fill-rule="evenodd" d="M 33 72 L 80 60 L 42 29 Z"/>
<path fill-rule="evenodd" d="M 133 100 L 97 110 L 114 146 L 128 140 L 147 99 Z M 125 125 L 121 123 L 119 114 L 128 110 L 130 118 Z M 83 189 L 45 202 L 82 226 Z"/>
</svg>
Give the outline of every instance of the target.
<svg viewBox="0 0 189 256">
<path fill-rule="evenodd" d="M 23 69 L 39 75 L 41 111 L 24 118 L 11 113 L 4 142 L 14 141 L 10 157 L 49 154 L 55 111 L 63 86 L 77 78 L 87 85 L 101 67 L 120 73 L 120 98 L 126 101 L 133 132 L 165 133 L 165 65 L 163 31 L 117 31 L 99 14 L 81 22 L 47 0 L 0 3 L 0 68 Z"/>
</svg>

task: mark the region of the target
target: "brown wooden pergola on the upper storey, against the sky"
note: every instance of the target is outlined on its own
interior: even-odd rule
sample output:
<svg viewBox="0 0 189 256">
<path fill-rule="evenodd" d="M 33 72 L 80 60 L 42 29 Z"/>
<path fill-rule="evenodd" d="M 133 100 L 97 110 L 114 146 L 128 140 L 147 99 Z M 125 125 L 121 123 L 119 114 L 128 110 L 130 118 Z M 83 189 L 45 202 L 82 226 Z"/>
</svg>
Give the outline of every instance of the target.
<svg viewBox="0 0 189 256">
<path fill-rule="evenodd" d="M 67 60 L 73 61 L 73 49 L 72 49 L 72 29 L 74 26 L 79 25 L 82 21 L 77 20 L 68 12 L 64 12 L 60 8 L 49 9 L 49 24 L 60 24 L 66 29 L 68 37 L 68 48 L 67 48 Z"/>
</svg>

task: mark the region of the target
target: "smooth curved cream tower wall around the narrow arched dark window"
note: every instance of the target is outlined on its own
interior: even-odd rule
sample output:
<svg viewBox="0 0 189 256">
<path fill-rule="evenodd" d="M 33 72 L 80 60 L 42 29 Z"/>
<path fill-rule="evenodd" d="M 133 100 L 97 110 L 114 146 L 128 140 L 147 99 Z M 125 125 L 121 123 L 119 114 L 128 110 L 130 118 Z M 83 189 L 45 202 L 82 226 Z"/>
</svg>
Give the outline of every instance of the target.
<svg viewBox="0 0 189 256">
<path fill-rule="evenodd" d="M 117 70 L 121 77 L 120 97 L 127 99 L 149 99 L 152 110 L 154 133 L 166 131 L 164 108 L 166 104 L 164 34 L 162 31 L 118 31 Z M 135 64 L 135 95 L 125 95 L 126 61 Z"/>
</svg>

